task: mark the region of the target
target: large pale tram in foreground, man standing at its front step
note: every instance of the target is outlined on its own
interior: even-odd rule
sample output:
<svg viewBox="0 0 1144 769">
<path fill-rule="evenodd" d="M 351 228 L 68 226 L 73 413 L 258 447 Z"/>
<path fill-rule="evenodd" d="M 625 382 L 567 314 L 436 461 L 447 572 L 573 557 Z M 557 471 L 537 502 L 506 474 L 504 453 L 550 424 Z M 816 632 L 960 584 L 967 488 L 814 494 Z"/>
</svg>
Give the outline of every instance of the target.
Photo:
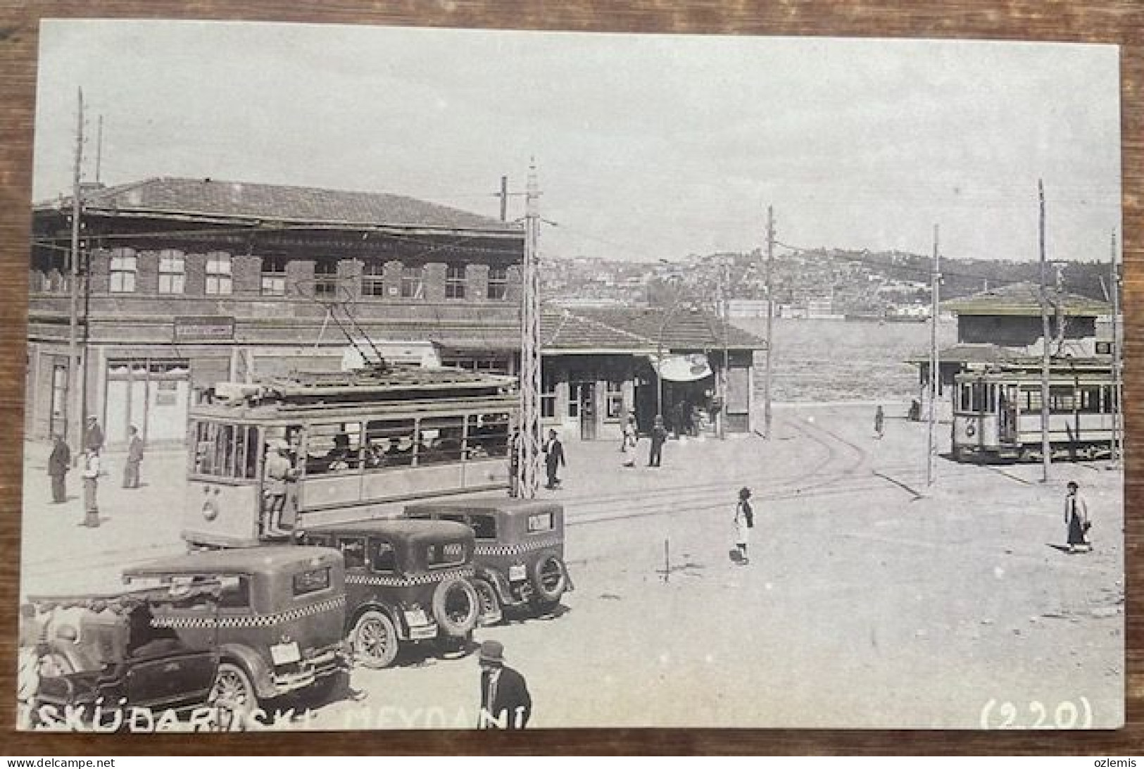
<svg viewBox="0 0 1144 769">
<path fill-rule="evenodd" d="M 285 521 L 400 514 L 400 502 L 508 489 L 519 399 L 509 376 L 374 366 L 255 384 L 221 382 L 188 427 L 183 539 L 254 547 L 268 531 L 263 463 L 289 459 Z"/>
</svg>

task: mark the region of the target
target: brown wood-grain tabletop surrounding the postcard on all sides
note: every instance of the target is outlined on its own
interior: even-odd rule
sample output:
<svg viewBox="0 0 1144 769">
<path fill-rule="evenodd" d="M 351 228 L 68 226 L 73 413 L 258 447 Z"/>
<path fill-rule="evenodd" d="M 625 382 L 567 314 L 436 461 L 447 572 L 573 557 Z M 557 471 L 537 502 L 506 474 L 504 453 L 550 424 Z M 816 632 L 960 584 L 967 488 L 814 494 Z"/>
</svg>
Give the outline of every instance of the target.
<svg viewBox="0 0 1144 769">
<path fill-rule="evenodd" d="M 225 18 L 453 27 L 909 38 L 1056 40 L 1122 46 L 1125 310 L 1128 404 L 1126 484 L 1128 727 L 1096 732 L 828 730 L 547 730 L 495 732 L 328 732 L 197 736 L 27 735 L 13 732 L 26 262 L 32 187 L 38 21 L 41 17 Z M 1144 605 L 1139 557 L 1144 502 L 1144 3 L 1138 0 L 834 0 L 748 2 L 644 0 L 508 3 L 496 0 L 59 0 L 0 1 L 0 753 L 66 754 L 373 754 L 373 753 L 1050 753 L 1115 756 L 1144 746 Z"/>
</svg>

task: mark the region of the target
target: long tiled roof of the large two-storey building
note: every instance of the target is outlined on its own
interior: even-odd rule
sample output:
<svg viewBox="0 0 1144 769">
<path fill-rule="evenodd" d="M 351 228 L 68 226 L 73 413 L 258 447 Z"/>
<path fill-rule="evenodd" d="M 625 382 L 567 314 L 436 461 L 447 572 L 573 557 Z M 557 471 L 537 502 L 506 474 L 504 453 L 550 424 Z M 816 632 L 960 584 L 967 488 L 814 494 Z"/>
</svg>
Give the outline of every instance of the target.
<svg viewBox="0 0 1144 769">
<path fill-rule="evenodd" d="M 402 195 L 209 179 L 148 179 L 88 190 L 84 205 L 92 211 L 124 213 L 523 232 L 498 219 Z"/>
</svg>

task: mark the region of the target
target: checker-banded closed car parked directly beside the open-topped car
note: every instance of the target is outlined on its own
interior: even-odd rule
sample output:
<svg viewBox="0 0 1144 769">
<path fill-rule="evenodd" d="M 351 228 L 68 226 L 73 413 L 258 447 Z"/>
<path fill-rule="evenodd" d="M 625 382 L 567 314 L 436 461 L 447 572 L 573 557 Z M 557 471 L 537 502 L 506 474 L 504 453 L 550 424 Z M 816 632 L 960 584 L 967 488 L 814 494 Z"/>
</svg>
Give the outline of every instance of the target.
<svg viewBox="0 0 1144 769">
<path fill-rule="evenodd" d="M 200 550 L 124 571 L 128 582 L 152 582 L 172 594 L 217 581 L 215 605 L 180 601 L 156 610 L 156 627 L 188 645 L 219 650 L 214 697 L 235 711 L 319 685 L 336 685 L 348 667 L 345 570 L 336 550 L 272 545 Z"/>
</svg>

